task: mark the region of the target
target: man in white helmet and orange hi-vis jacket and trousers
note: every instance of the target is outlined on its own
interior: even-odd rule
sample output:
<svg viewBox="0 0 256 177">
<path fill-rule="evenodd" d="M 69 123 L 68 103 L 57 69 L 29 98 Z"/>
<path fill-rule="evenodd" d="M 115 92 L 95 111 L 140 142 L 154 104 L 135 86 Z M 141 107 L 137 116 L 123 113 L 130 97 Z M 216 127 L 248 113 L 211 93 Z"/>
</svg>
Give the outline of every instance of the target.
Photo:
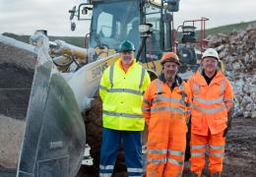
<svg viewBox="0 0 256 177">
<path fill-rule="evenodd" d="M 202 68 L 188 81 L 192 93 L 192 176 L 201 176 L 207 148 L 211 176 L 220 177 L 223 171 L 224 137 L 230 127 L 230 117 L 228 120 L 227 114 L 233 108 L 233 91 L 218 68 L 218 61 L 218 52 L 213 48 L 207 49 L 203 53 Z"/>
</svg>

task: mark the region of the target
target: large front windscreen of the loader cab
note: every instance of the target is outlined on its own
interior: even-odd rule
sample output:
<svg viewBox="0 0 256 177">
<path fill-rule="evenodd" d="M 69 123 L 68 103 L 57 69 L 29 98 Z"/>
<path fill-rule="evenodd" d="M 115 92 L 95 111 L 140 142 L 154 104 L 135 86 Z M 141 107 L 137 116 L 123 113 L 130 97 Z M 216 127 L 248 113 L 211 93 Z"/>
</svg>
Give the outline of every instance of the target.
<svg viewBox="0 0 256 177">
<path fill-rule="evenodd" d="M 129 39 L 135 44 L 135 48 L 138 48 L 140 1 L 105 0 L 93 3 L 90 47 L 105 46 L 117 51 L 120 42 Z"/>
</svg>

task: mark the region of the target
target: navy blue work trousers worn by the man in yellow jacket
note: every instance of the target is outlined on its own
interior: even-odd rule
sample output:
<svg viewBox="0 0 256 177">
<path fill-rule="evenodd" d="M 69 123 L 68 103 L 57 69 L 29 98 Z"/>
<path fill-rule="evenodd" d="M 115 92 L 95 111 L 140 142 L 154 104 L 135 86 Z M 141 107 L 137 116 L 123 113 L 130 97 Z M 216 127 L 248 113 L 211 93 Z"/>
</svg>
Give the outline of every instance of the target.
<svg viewBox="0 0 256 177">
<path fill-rule="evenodd" d="M 121 142 L 129 176 L 142 176 L 141 131 L 116 131 L 103 128 L 99 176 L 111 176 Z"/>
</svg>

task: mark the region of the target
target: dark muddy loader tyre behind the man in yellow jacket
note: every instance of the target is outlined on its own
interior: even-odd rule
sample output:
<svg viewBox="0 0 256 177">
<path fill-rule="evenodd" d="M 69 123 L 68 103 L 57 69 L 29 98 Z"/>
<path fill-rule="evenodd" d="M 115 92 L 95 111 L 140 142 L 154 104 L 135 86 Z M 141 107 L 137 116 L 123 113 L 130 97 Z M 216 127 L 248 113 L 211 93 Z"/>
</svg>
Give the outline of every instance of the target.
<svg viewBox="0 0 256 177">
<path fill-rule="evenodd" d="M 101 134 L 102 134 L 102 102 L 99 97 L 98 91 L 96 91 L 95 99 L 92 101 L 92 108 L 89 111 L 83 113 L 84 122 L 86 125 L 86 137 L 87 144 L 91 147 L 91 156 L 94 158 L 93 166 L 83 166 L 80 170 L 85 174 L 98 174 L 99 167 L 99 155 L 101 146 Z M 115 162 L 114 173 L 126 172 L 126 166 L 124 162 L 123 148 L 121 147 L 117 159 Z"/>
</svg>

